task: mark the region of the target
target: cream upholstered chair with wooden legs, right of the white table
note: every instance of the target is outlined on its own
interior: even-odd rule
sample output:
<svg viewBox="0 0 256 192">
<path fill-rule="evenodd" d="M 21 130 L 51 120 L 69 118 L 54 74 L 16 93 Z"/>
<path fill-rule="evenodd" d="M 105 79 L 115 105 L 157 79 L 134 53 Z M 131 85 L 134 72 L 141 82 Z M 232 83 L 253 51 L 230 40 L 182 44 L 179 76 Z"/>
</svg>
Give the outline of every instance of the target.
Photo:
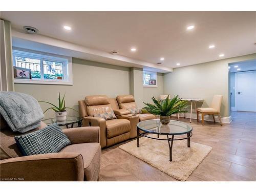
<svg viewBox="0 0 256 192">
<path fill-rule="evenodd" d="M 222 98 L 223 98 L 222 95 L 215 95 L 211 101 L 210 108 L 197 108 L 197 121 L 198 121 L 199 113 L 202 114 L 202 125 L 204 124 L 204 114 L 212 115 L 212 118 L 214 118 L 214 122 L 215 122 L 214 115 L 218 115 L 220 123 L 222 125 L 221 116 L 220 116 Z"/>
</svg>

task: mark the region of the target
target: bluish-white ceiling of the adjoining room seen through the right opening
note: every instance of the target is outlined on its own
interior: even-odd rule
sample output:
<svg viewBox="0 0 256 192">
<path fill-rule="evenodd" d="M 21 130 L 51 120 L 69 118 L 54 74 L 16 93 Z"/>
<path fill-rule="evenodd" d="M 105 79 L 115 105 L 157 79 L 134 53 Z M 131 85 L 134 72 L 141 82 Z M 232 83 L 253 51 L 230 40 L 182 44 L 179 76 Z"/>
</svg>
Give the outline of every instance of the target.
<svg viewBox="0 0 256 192">
<path fill-rule="evenodd" d="M 230 63 L 230 73 L 256 70 L 256 59 Z M 238 66 L 238 67 L 234 67 Z M 239 71 L 237 69 L 240 69 Z"/>
</svg>

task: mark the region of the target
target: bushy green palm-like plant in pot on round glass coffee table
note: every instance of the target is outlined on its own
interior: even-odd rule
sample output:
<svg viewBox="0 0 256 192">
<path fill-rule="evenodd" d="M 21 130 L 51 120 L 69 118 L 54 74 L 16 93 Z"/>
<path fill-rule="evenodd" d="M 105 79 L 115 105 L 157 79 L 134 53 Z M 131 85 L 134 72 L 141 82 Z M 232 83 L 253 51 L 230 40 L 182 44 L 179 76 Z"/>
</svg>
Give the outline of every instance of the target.
<svg viewBox="0 0 256 192">
<path fill-rule="evenodd" d="M 143 102 L 145 104 L 143 109 L 153 115 L 159 115 L 162 124 L 168 124 L 172 114 L 187 112 L 184 110 L 187 101 L 181 100 L 178 95 L 174 96 L 173 99 L 169 99 L 168 95 L 164 100 L 157 100 L 155 97 L 152 97 L 152 100 L 154 104 Z"/>
</svg>

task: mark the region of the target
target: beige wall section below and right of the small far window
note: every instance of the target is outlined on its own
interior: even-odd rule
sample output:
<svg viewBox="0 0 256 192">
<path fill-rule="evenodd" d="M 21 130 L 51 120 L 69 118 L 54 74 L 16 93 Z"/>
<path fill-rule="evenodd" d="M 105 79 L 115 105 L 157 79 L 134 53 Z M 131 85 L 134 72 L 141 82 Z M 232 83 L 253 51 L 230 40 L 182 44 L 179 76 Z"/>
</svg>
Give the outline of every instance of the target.
<svg viewBox="0 0 256 192">
<path fill-rule="evenodd" d="M 154 96 L 156 99 L 159 99 L 160 95 L 163 95 L 163 74 L 157 73 L 157 87 L 143 88 L 143 101 L 152 103 L 151 97 Z"/>
</svg>

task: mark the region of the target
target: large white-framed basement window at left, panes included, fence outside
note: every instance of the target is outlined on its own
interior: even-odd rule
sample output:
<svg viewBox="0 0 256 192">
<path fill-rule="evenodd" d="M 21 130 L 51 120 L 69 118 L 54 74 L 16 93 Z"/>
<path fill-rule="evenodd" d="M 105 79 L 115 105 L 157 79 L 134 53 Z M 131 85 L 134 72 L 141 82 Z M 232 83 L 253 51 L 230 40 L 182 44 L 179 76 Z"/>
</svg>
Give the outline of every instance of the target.
<svg viewBox="0 0 256 192">
<path fill-rule="evenodd" d="M 31 70 L 31 79 L 14 75 L 14 83 L 73 84 L 72 58 L 69 57 L 14 49 L 13 65 L 17 69 Z"/>
</svg>

